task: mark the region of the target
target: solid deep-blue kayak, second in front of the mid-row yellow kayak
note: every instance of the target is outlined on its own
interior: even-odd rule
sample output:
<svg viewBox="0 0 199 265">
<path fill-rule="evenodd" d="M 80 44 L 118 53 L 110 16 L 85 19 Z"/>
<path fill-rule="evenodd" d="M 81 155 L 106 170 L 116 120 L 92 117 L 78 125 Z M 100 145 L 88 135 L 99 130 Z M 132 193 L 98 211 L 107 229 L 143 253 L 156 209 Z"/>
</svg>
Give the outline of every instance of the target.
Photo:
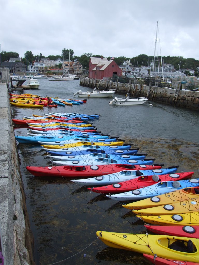
<svg viewBox="0 0 199 265">
<path fill-rule="evenodd" d="M 62 152 L 54 152 L 54 151 L 49 151 L 46 150 L 49 154 L 51 155 L 55 155 L 55 156 L 81 156 L 81 155 L 85 155 L 85 154 L 92 154 L 94 153 L 98 153 L 98 154 L 126 154 L 126 155 L 133 155 L 133 154 L 137 154 L 137 151 L 139 150 L 139 148 L 137 149 L 129 149 L 129 150 L 111 150 L 111 149 L 107 149 L 106 151 L 103 149 L 85 149 L 85 150 L 80 150 L 80 151 L 65 151 L 63 150 Z"/>
</svg>

